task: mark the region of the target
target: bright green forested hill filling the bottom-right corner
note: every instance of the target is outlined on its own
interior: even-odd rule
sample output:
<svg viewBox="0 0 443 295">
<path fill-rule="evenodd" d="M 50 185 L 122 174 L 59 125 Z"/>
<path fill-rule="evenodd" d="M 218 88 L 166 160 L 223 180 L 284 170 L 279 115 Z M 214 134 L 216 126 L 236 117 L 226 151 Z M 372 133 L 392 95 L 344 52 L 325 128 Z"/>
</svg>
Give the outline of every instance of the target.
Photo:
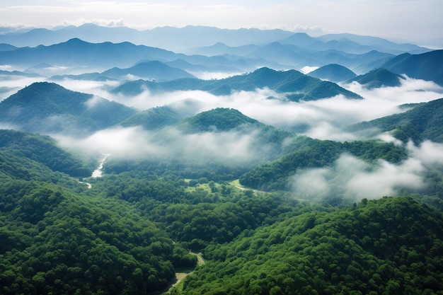
<svg viewBox="0 0 443 295">
<path fill-rule="evenodd" d="M 407 197 L 302 214 L 212 248 L 183 294 L 439 294 L 442 229 Z"/>
</svg>

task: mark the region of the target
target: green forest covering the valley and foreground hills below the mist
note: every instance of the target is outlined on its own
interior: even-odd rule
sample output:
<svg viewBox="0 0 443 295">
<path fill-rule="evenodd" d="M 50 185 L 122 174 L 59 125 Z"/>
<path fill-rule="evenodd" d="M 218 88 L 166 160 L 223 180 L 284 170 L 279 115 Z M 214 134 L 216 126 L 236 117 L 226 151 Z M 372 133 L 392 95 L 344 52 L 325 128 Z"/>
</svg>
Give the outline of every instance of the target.
<svg viewBox="0 0 443 295">
<path fill-rule="evenodd" d="M 90 178 L 96 155 L 1 130 L 0 294 L 443 294 L 441 170 L 425 192 L 358 203 L 312 202 L 281 185 L 280 171 L 343 152 L 406 157 L 379 141 L 295 137 L 285 156 L 243 175 L 111 156 Z"/>
</svg>

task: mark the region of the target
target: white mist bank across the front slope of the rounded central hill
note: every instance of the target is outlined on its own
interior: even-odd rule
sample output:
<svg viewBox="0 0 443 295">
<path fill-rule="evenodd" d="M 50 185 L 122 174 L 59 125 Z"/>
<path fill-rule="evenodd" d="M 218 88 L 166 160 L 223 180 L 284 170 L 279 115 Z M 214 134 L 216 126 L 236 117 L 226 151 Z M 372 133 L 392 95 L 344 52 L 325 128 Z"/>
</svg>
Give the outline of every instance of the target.
<svg viewBox="0 0 443 295">
<path fill-rule="evenodd" d="M 83 139 L 56 135 L 59 144 L 88 154 L 112 154 L 128 160 L 180 160 L 184 164 L 225 166 L 263 161 L 270 146 L 259 144 L 258 131 L 202 132 L 183 134 L 170 127 L 148 132 L 141 127 L 117 127 L 100 130 Z"/>
</svg>

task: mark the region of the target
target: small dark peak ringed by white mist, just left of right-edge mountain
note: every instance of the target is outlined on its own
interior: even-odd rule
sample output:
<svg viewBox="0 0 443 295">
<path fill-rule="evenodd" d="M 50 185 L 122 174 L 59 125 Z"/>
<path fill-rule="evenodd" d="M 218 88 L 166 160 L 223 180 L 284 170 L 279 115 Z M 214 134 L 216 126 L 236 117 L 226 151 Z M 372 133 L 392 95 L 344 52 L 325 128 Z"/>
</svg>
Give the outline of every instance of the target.
<svg viewBox="0 0 443 295">
<path fill-rule="evenodd" d="M 346 81 L 351 83 L 356 81 L 368 89 L 380 88 L 380 87 L 395 87 L 401 85 L 401 80 L 405 80 L 405 77 L 394 74 L 387 69 L 374 69 L 364 75 L 356 76 Z"/>
</svg>

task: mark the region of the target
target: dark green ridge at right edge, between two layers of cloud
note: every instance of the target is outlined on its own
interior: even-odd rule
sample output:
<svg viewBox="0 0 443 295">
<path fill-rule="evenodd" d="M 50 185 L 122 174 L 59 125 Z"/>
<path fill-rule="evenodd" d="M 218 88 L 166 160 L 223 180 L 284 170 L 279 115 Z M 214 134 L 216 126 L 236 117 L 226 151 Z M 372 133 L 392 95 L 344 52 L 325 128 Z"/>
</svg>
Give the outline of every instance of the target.
<svg viewBox="0 0 443 295">
<path fill-rule="evenodd" d="M 442 114 L 443 98 L 420 103 L 401 114 L 352 125 L 348 130 L 369 134 L 393 132 L 393 136 L 403 142 L 413 139 L 415 143 L 420 143 L 430 139 L 441 143 L 443 142 Z"/>
</svg>

